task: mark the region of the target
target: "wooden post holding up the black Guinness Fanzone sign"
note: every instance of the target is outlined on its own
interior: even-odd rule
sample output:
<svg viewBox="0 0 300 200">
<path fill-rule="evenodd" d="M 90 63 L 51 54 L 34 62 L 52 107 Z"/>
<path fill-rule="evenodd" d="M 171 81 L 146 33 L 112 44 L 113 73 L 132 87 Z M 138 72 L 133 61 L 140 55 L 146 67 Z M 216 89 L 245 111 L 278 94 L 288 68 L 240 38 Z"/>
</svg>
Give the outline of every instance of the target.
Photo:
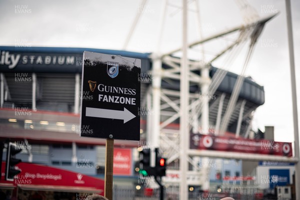
<svg viewBox="0 0 300 200">
<path fill-rule="evenodd" d="M 112 200 L 112 173 L 113 173 L 113 139 L 106 139 L 105 144 L 105 178 L 104 196 Z"/>
</svg>

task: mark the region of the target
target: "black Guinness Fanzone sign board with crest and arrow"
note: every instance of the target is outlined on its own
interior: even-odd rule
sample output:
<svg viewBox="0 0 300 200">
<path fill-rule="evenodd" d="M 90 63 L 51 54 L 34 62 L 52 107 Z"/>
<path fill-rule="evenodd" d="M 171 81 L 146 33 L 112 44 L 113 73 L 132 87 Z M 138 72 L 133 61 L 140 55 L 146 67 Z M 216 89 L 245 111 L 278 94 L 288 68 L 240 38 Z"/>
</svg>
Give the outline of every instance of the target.
<svg viewBox="0 0 300 200">
<path fill-rule="evenodd" d="M 80 136 L 139 140 L 140 63 L 84 51 Z"/>
</svg>

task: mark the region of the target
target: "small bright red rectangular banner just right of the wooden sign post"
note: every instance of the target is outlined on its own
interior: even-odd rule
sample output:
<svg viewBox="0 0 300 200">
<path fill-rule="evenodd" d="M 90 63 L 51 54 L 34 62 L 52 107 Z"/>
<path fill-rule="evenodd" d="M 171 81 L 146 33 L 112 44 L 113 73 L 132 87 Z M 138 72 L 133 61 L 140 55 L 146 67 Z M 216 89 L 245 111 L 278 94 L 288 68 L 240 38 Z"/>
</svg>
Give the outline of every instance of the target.
<svg viewBox="0 0 300 200">
<path fill-rule="evenodd" d="M 132 175 L 132 153 L 130 148 L 113 149 L 113 175 Z"/>
</svg>

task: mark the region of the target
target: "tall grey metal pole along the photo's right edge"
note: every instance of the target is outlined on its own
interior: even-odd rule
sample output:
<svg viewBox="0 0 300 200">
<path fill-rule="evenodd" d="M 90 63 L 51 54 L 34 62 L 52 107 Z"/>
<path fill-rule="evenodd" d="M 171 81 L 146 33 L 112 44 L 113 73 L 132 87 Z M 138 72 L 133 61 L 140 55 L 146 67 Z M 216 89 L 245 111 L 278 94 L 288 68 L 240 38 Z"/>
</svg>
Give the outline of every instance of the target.
<svg viewBox="0 0 300 200">
<path fill-rule="evenodd" d="M 293 129 L 294 129 L 294 156 L 300 157 L 299 152 L 299 130 L 298 130 L 298 108 L 297 108 L 297 93 L 296 93 L 296 77 L 295 77 L 295 61 L 293 52 L 293 36 L 291 24 L 291 10 L 290 0 L 285 0 L 286 22 L 287 22 L 287 37 L 289 50 L 289 66 L 290 66 L 290 83 L 291 83 L 291 97 L 292 97 L 292 113 L 293 113 Z M 295 199 L 300 199 L 300 162 L 295 164 Z"/>
</svg>

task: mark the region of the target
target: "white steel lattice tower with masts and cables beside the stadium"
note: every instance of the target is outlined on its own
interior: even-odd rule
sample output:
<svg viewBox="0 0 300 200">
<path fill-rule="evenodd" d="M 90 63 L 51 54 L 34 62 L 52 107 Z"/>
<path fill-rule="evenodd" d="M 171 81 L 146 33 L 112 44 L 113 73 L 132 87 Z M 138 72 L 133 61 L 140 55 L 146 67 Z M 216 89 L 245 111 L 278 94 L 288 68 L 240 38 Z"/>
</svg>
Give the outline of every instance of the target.
<svg viewBox="0 0 300 200">
<path fill-rule="evenodd" d="M 240 7 L 245 1 L 239 0 Z M 142 1 L 144 5 L 145 0 Z M 197 12 L 199 8 L 196 3 Z M 147 115 L 147 140 L 151 147 L 159 147 L 160 151 L 163 152 L 163 156 L 167 158 L 167 162 L 171 163 L 174 160 L 179 160 L 179 170 L 172 170 L 172 172 L 179 174 L 178 182 L 180 191 L 180 199 L 188 199 L 188 185 L 201 185 L 203 190 L 209 189 L 209 168 L 199 167 L 198 161 L 199 156 L 205 161 L 205 157 L 223 157 L 223 158 L 235 158 L 235 159 L 246 159 L 246 160 L 276 160 L 276 161 L 287 161 L 297 162 L 298 155 L 293 158 L 278 157 L 271 155 L 257 156 L 256 154 L 245 154 L 245 153 L 226 153 L 226 152 L 213 152 L 209 150 L 194 150 L 189 149 L 189 133 L 191 128 L 193 130 L 201 130 L 202 134 L 208 134 L 209 127 L 216 129 L 215 134 L 223 135 L 227 130 L 228 123 L 233 113 L 237 113 L 237 126 L 236 126 L 236 137 L 241 136 L 240 128 L 241 122 L 245 117 L 248 117 L 250 122 L 246 127 L 246 131 L 243 136 L 249 134 L 252 120 L 253 109 L 245 112 L 246 101 L 238 99 L 241 85 L 243 83 L 245 71 L 249 63 L 251 54 L 254 49 L 254 45 L 259 37 L 264 24 L 274 17 L 276 14 L 258 18 L 253 10 L 245 10 L 250 12 L 249 15 L 244 15 L 245 24 L 239 25 L 225 31 L 215 33 L 211 36 L 200 38 L 197 41 L 188 43 L 187 41 L 187 0 L 182 0 L 182 43 L 181 46 L 171 50 L 167 53 L 160 53 L 161 35 L 163 24 L 165 20 L 167 10 L 167 0 L 163 2 L 162 18 L 159 23 L 159 38 L 157 44 L 157 51 L 152 53 L 150 58 L 152 59 L 152 69 L 150 71 L 152 76 L 152 83 L 148 87 L 144 105 L 149 107 L 152 114 Z M 197 13 L 198 14 L 198 13 Z M 133 32 L 136 25 L 137 19 L 134 20 L 130 32 Z M 200 23 L 199 14 L 198 23 Z M 200 29 L 200 28 L 199 28 Z M 193 48 L 197 45 L 202 45 L 205 42 L 225 36 L 227 34 L 238 32 L 237 38 L 224 49 L 221 49 L 216 55 L 208 60 L 190 60 L 188 59 L 188 49 Z M 128 44 L 130 39 L 129 34 L 124 47 Z M 237 53 L 240 52 L 241 47 L 249 42 L 248 53 L 242 67 L 241 74 L 237 77 L 232 93 L 225 94 L 221 93 L 215 99 L 213 105 L 217 109 L 216 122 L 215 124 L 209 124 L 209 95 L 214 95 L 219 84 L 225 77 L 227 70 L 222 68 L 217 69 L 213 77 L 209 76 L 210 63 L 222 55 L 227 55 L 227 59 L 224 62 L 224 68 L 229 66 Z M 180 57 L 173 56 L 174 53 L 180 52 Z M 202 51 L 203 52 L 203 51 Z M 201 57 L 201 56 L 199 56 Z M 168 68 L 162 68 L 162 64 L 166 64 Z M 195 72 L 195 71 L 198 71 Z M 165 81 L 170 84 L 174 81 L 180 82 L 180 90 L 166 89 L 161 87 L 161 82 Z M 198 85 L 200 91 L 191 92 L 190 85 Z M 224 104 L 224 99 L 227 97 L 228 103 Z M 225 109 L 224 115 L 222 111 Z M 171 127 L 170 124 L 174 121 L 178 123 L 179 127 Z M 295 137 L 296 139 L 296 137 Z M 193 170 L 189 170 L 188 165 L 191 165 Z M 298 183 L 298 182 L 297 182 Z M 297 198 L 298 199 L 298 198 Z"/>
</svg>

